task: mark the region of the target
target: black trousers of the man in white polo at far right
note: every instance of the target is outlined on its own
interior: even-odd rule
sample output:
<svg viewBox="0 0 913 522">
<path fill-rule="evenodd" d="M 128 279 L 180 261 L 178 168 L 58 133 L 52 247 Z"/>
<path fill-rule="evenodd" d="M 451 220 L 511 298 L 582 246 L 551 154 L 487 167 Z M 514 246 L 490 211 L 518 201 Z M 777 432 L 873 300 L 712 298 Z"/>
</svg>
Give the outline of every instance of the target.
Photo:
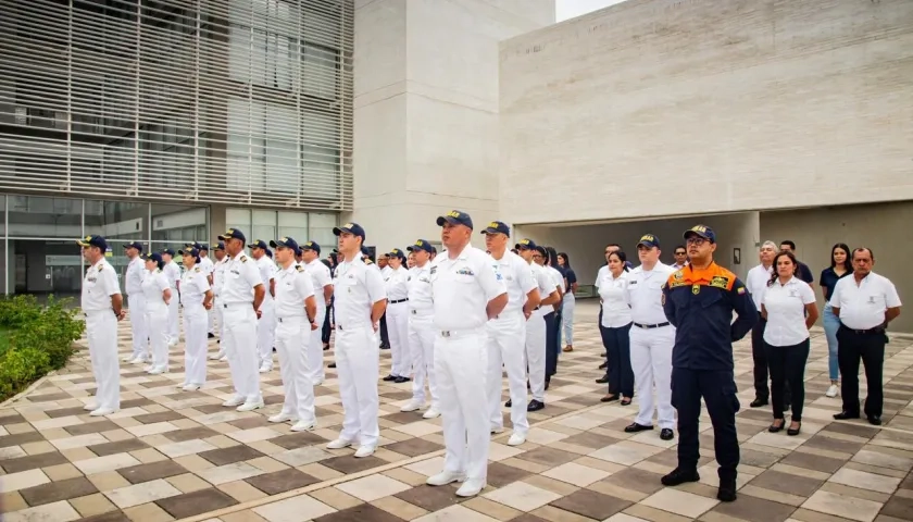
<svg viewBox="0 0 913 522">
<path fill-rule="evenodd" d="M 859 414 L 859 361 L 865 366 L 865 382 L 868 396 L 863 411 L 866 417 L 881 417 L 885 396 L 881 388 L 881 374 L 885 363 L 884 332 L 858 334 L 842 324 L 837 331 L 837 363 L 840 364 L 840 396 L 843 398 L 843 411 Z"/>
</svg>

